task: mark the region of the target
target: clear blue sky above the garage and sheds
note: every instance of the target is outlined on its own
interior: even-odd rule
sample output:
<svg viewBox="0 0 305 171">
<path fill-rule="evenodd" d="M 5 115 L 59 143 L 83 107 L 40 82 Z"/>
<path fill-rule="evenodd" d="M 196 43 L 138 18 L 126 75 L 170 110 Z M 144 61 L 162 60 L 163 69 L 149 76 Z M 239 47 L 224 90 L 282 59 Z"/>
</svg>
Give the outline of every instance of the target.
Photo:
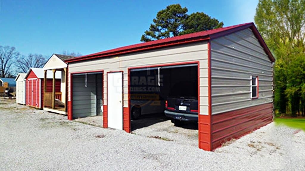
<svg viewBox="0 0 305 171">
<path fill-rule="evenodd" d="M 231 26 L 253 22 L 258 0 L 0 0 L 0 45 L 51 56 L 136 44 L 157 12 L 176 3 Z"/>
</svg>

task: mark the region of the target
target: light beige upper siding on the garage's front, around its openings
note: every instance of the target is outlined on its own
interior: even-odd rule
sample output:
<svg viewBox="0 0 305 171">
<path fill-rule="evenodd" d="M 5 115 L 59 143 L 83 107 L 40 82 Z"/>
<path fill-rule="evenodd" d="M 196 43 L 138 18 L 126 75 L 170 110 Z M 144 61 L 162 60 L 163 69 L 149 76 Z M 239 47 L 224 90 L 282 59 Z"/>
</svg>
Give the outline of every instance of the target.
<svg viewBox="0 0 305 171">
<path fill-rule="evenodd" d="M 128 69 L 148 65 L 160 65 L 199 61 L 200 74 L 200 114 L 208 114 L 208 66 L 207 42 L 184 44 L 175 47 L 125 54 L 116 58 L 101 58 L 91 61 L 70 63 L 68 66 L 68 100 L 70 101 L 70 73 L 104 70 L 104 105 L 107 103 L 107 76 L 110 71 L 123 71 L 124 107 L 128 107 Z M 74 101 L 74 99 L 73 99 Z"/>
</svg>

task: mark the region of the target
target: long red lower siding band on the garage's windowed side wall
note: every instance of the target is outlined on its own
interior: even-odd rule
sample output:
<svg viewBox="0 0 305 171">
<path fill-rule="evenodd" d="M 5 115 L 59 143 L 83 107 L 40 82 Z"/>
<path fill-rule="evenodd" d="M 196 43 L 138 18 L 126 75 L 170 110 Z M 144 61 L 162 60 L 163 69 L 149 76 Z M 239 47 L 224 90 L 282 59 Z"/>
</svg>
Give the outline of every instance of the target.
<svg viewBox="0 0 305 171">
<path fill-rule="evenodd" d="M 272 122 L 272 103 L 212 115 L 212 150 Z"/>
</svg>

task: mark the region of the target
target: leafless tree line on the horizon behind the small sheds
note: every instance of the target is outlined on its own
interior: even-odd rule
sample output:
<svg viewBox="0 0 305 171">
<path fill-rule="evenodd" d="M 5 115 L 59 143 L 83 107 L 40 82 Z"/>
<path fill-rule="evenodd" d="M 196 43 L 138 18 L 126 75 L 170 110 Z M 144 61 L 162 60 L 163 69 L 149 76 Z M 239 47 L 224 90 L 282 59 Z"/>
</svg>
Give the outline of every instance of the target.
<svg viewBox="0 0 305 171">
<path fill-rule="evenodd" d="M 63 55 L 81 56 L 80 53 L 63 51 Z M 18 73 L 27 73 L 30 68 L 41 68 L 45 65 L 48 56 L 42 54 L 22 55 L 15 47 L 0 45 L 0 77 L 15 78 Z"/>
</svg>

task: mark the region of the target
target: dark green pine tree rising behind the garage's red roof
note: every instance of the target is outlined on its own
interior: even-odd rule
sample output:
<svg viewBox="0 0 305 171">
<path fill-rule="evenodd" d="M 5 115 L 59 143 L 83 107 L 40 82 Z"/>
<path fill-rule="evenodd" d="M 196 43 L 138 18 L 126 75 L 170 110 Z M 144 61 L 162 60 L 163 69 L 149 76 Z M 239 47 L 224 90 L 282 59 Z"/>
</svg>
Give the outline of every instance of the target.
<svg viewBox="0 0 305 171">
<path fill-rule="evenodd" d="M 157 13 L 153 24 L 141 37 L 141 41 L 148 42 L 182 34 L 210 30 L 223 26 L 223 23 L 211 18 L 203 12 L 187 14 L 188 9 L 179 4 L 173 4 Z"/>
</svg>

